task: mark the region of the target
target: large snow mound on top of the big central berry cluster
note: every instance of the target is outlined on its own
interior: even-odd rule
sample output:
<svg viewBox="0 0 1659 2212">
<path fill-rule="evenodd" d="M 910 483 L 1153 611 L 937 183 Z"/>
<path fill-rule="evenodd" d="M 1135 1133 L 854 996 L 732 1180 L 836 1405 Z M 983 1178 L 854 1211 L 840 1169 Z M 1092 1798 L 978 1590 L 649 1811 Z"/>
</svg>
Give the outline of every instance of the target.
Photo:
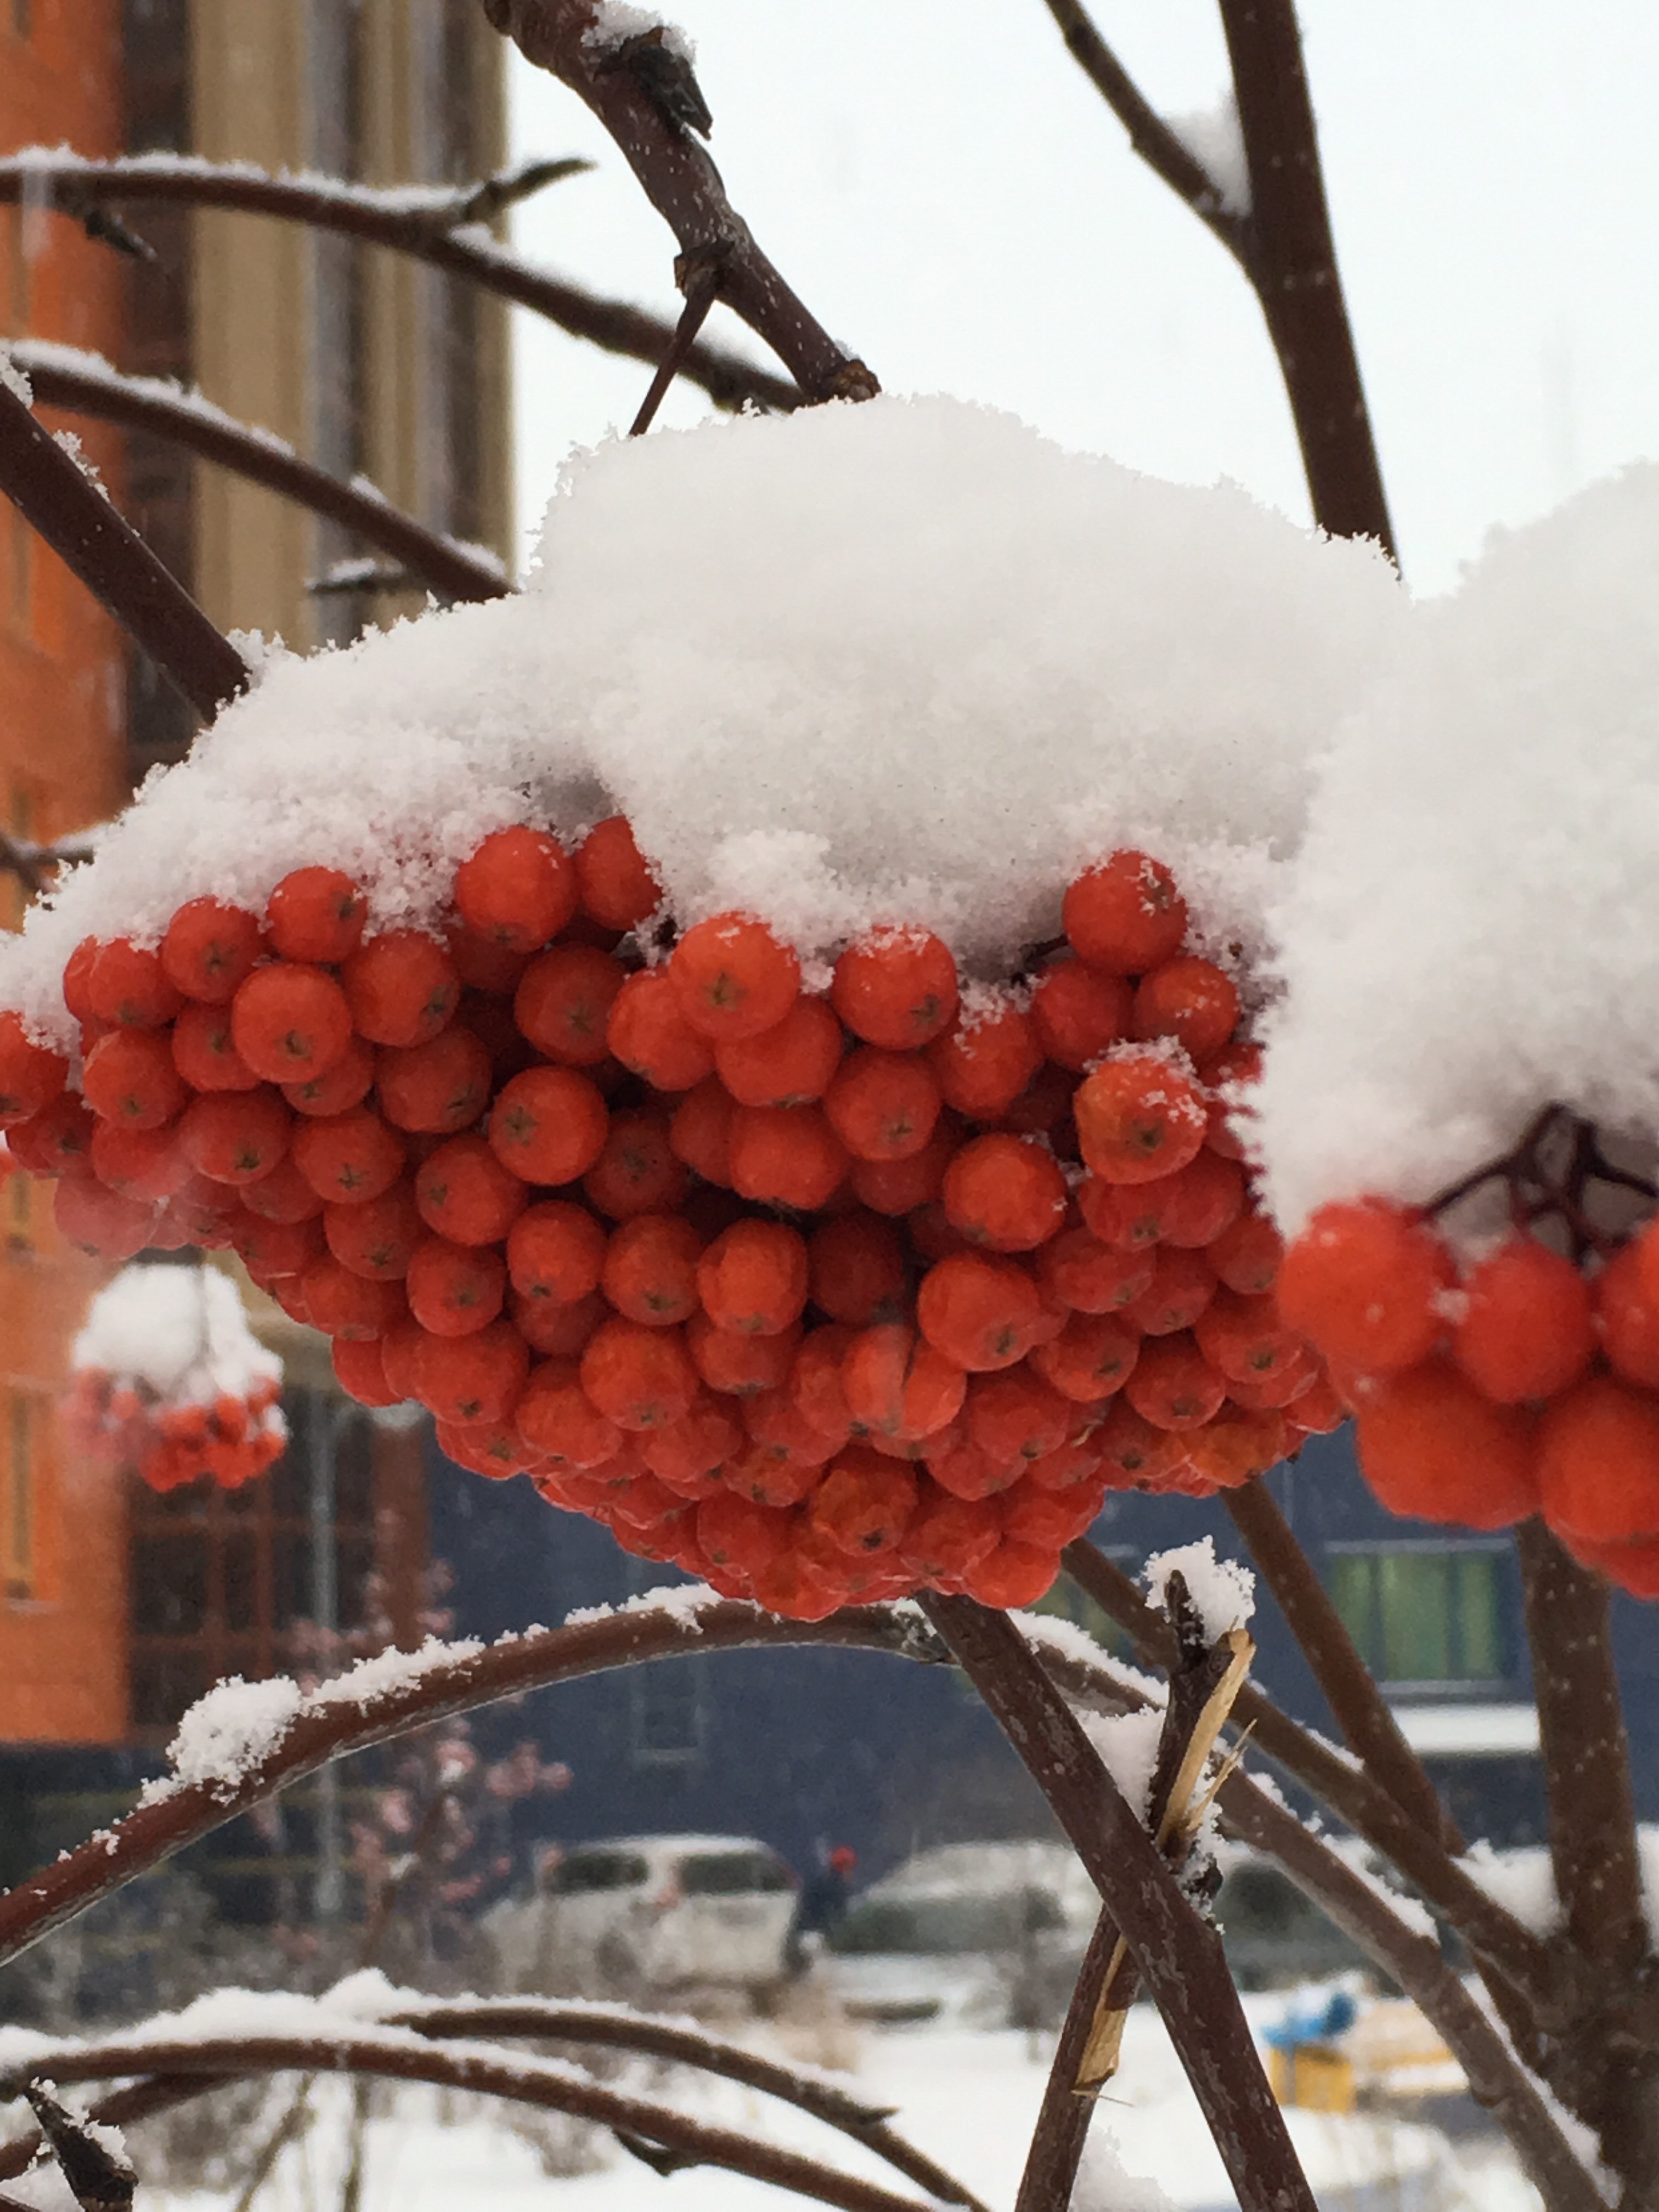
<svg viewBox="0 0 1659 2212">
<path fill-rule="evenodd" d="M 684 922 L 750 907 L 803 953 L 898 920 L 1004 973 L 1124 843 L 1254 940 L 1405 606 L 1374 549 L 956 400 L 604 445 L 522 597 L 270 653 L 4 947 L 0 998 L 62 1042 L 82 936 L 155 942 L 307 863 L 374 927 L 436 922 L 491 830 L 615 810 Z"/>
</svg>

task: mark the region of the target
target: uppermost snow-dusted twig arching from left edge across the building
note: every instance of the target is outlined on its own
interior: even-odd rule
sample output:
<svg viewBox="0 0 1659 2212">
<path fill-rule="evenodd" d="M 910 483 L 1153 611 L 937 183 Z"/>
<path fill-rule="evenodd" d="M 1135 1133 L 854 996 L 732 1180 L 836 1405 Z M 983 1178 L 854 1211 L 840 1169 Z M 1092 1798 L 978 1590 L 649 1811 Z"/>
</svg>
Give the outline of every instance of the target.
<svg viewBox="0 0 1659 2212">
<path fill-rule="evenodd" d="M 91 201 L 170 201 L 338 230 L 369 246 L 411 254 L 515 307 L 529 307 L 573 338 L 586 338 L 608 354 L 657 363 L 675 338 L 672 323 L 661 316 L 533 270 L 489 239 L 460 234 L 431 210 L 409 208 L 403 195 L 374 192 L 369 186 L 316 177 L 301 184 L 292 177 L 261 177 L 239 166 L 215 168 L 212 161 L 168 157 L 168 164 L 157 164 L 144 155 L 126 161 L 82 161 L 77 155 L 46 153 L 0 159 L 0 206 L 22 201 L 29 192 L 46 195 L 49 204 L 71 215 Z M 681 365 L 681 376 L 706 392 L 717 407 L 772 407 L 787 414 L 801 405 L 801 394 L 787 378 L 717 345 L 695 345 Z"/>
</svg>

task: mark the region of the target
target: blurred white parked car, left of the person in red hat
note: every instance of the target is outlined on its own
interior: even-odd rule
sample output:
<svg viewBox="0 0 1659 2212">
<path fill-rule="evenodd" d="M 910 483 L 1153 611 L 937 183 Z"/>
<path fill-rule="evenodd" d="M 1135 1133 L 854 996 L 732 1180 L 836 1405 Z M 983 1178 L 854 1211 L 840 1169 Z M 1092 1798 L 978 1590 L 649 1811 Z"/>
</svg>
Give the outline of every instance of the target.
<svg viewBox="0 0 1659 2212">
<path fill-rule="evenodd" d="M 502 1991 L 635 1995 L 783 1980 L 799 1876 L 754 1836 L 619 1836 L 551 1856 L 484 1916 Z"/>
</svg>

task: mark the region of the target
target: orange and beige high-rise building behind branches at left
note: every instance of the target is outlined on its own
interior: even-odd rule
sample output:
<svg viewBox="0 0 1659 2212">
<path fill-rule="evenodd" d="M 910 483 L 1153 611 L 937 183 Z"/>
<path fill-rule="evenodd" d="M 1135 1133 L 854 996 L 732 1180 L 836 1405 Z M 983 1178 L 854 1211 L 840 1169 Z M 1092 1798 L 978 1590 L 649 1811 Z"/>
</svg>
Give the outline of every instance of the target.
<svg viewBox="0 0 1659 2212">
<path fill-rule="evenodd" d="M 462 181 L 500 166 L 502 113 L 500 42 L 476 0 L 0 0 L 0 150 L 201 150 L 383 184 Z M 157 206 L 126 219 L 155 259 L 97 243 L 27 195 L 0 204 L 0 336 L 199 383 L 334 473 L 363 471 L 425 522 L 511 551 L 495 303 L 296 226 Z M 361 549 L 272 493 L 155 438 L 42 416 L 80 436 L 221 628 L 305 646 L 407 611 L 310 591 Z M 53 841 L 108 818 L 190 737 L 155 670 L 0 504 L 0 821 Z M 20 900 L 0 876 L 4 925 Z M 420 1436 L 343 1418 L 316 1345 L 290 1340 L 294 1447 L 265 1482 L 153 1498 L 86 1464 L 60 1438 L 55 1402 L 100 1270 L 58 1241 L 46 1188 L 11 1177 L 0 1214 L 9 1767 L 22 1747 L 164 1743 L 219 1674 L 290 1663 L 290 1628 L 319 1617 L 319 1593 L 338 1628 L 374 1615 L 407 1635 L 425 1557 Z"/>
</svg>

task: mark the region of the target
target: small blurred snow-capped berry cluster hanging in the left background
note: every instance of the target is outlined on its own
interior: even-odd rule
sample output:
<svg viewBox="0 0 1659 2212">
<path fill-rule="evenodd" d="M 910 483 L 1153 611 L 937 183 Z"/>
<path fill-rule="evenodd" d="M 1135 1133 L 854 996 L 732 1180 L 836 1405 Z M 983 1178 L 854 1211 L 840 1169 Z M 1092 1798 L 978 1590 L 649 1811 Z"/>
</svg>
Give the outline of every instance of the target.
<svg viewBox="0 0 1659 2212">
<path fill-rule="evenodd" d="M 204 1475 L 234 1491 L 283 1455 L 281 1380 L 234 1283 L 208 1267 L 131 1265 L 75 1338 L 64 1420 L 82 1451 L 133 1467 L 153 1491 Z"/>
</svg>

